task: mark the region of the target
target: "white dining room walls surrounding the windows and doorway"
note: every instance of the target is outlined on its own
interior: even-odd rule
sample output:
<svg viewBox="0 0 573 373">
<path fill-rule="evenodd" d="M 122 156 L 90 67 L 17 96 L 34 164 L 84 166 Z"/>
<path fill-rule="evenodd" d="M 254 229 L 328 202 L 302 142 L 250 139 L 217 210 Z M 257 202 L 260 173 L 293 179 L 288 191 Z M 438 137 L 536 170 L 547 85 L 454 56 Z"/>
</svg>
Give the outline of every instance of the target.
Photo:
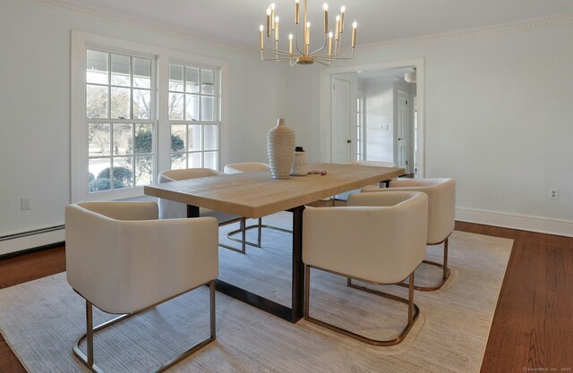
<svg viewBox="0 0 573 373">
<path fill-rule="evenodd" d="M 361 65 L 423 57 L 426 176 L 458 181 L 466 220 L 573 235 L 573 22 L 436 42 L 360 47 Z M 70 199 L 70 30 L 229 62 L 223 164 L 266 159 L 278 116 L 321 159 L 321 66 L 256 54 L 33 0 L 0 2 L 0 236 L 64 223 Z M 560 199 L 547 198 L 560 189 Z M 31 198 L 22 212 L 20 198 Z M 517 223 L 516 223 L 517 222 Z M 543 227 L 544 225 L 544 227 Z M 541 226 L 541 227 L 540 227 Z M 559 229 L 557 229 L 557 228 Z M 39 242 L 50 243 L 50 242 Z M 3 253 L 0 242 L 0 254 Z"/>
</svg>

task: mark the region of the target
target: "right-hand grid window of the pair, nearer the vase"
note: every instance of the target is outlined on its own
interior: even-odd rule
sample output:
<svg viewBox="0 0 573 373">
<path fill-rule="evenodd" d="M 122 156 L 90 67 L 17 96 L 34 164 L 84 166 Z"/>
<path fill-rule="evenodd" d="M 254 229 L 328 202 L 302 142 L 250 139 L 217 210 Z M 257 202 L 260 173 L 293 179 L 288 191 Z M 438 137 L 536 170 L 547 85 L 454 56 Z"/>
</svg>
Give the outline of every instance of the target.
<svg viewBox="0 0 573 373">
<path fill-rule="evenodd" d="M 218 169 L 218 69 L 169 64 L 171 168 Z"/>
</svg>

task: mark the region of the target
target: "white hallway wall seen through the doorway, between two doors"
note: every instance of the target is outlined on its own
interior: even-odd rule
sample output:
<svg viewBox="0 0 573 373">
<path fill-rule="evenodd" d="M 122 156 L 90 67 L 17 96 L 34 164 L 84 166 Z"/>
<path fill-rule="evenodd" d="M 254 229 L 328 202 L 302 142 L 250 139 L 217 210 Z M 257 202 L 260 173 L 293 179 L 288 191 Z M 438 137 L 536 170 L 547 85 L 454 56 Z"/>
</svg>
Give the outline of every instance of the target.
<svg viewBox="0 0 573 373">
<path fill-rule="evenodd" d="M 364 82 L 366 159 L 394 162 L 394 83 Z"/>
</svg>

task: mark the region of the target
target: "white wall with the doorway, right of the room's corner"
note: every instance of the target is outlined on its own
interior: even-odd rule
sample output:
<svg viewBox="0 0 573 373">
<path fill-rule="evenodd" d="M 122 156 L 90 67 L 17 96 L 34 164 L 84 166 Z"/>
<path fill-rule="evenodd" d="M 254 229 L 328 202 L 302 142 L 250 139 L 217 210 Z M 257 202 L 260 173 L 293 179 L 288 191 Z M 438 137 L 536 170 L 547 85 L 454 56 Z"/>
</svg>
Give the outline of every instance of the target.
<svg viewBox="0 0 573 373">
<path fill-rule="evenodd" d="M 458 218 L 573 235 L 573 21 L 356 47 L 338 66 L 424 59 L 425 176 L 458 182 Z M 320 119 L 321 77 L 286 72 L 285 112 Z M 321 137 L 312 130 L 313 160 Z M 310 142 L 310 140 L 309 140 Z M 550 187 L 560 199 L 548 199 Z"/>
</svg>

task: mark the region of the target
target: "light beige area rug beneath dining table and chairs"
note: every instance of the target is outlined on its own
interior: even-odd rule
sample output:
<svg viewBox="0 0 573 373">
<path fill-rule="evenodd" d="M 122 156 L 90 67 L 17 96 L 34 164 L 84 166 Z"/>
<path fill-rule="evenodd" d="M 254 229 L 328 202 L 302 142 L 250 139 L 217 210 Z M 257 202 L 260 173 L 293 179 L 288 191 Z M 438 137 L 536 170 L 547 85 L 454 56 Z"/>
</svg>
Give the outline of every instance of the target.
<svg viewBox="0 0 573 373">
<path fill-rule="evenodd" d="M 290 218 L 281 213 L 264 220 L 288 227 Z M 291 240 L 264 230 L 263 248 L 249 248 L 246 256 L 220 249 L 220 278 L 290 304 Z M 511 240 L 454 232 L 448 284 L 439 292 L 415 292 L 421 316 L 406 341 L 391 347 L 359 343 L 304 320 L 291 324 L 217 293 L 217 341 L 169 371 L 478 372 L 511 246 Z M 440 251 L 429 249 L 439 260 Z M 312 274 L 311 312 L 317 318 L 376 338 L 391 336 L 406 320 L 401 303 L 350 289 L 338 276 Z M 416 276 L 422 283 L 439 271 L 420 267 Z M 384 290 L 407 292 L 398 286 Z M 208 335 L 208 310 L 203 287 L 112 326 L 96 335 L 96 362 L 107 372 L 154 369 Z M 84 301 L 64 274 L 0 291 L 0 331 L 30 372 L 88 371 L 72 353 L 84 315 Z M 94 322 L 108 318 L 97 311 Z"/>
</svg>

